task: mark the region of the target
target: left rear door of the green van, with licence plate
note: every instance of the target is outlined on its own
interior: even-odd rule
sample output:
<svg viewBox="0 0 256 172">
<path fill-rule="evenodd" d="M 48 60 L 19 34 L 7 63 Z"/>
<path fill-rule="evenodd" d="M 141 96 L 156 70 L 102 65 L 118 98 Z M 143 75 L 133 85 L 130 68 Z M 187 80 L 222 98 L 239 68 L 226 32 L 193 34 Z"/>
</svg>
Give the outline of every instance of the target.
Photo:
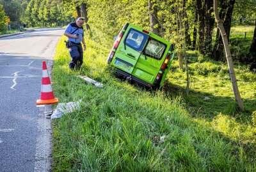
<svg viewBox="0 0 256 172">
<path fill-rule="evenodd" d="M 132 74 L 148 37 L 148 34 L 130 28 L 124 37 L 124 41 L 120 43 L 116 50 L 113 66 Z"/>
</svg>

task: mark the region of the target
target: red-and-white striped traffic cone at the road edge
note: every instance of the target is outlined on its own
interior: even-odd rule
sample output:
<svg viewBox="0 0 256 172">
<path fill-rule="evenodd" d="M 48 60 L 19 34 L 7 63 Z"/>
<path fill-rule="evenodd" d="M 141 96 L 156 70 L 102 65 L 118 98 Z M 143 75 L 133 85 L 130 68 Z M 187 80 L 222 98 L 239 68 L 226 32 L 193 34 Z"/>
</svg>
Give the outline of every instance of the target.
<svg viewBox="0 0 256 172">
<path fill-rule="evenodd" d="M 36 101 L 36 104 L 52 104 L 58 103 L 59 99 L 54 98 L 52 92 L 51 80 L 47 71 L 45 61 L 43 61 L 42 85 L 41 85 L 41 98 Z"/>
</svg>

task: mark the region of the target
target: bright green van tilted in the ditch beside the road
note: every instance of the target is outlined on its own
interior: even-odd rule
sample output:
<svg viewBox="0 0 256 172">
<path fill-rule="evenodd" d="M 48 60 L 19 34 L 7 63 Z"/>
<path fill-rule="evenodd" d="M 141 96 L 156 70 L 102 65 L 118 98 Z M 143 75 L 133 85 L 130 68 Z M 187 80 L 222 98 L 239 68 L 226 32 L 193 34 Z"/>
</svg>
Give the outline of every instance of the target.
<svg viewBox="0 0 256 172">
<path fill-rule="evenodd" d="M 170 42 L 127 23 L 109 53 L 108 63 L 127 80 L 155 89 L 163 86 L 174 52 Z"/>
</svg>

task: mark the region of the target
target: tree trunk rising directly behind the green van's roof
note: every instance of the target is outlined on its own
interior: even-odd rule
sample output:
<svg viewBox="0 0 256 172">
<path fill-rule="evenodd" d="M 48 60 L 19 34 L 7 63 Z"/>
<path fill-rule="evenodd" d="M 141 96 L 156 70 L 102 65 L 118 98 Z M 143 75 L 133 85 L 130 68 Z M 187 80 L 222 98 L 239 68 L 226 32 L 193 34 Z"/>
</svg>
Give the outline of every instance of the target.
<svg viewBox="0 0 256 172">
<path fill-rule="evenodd" d="M 148 15 L 150 22 L 150 31 L 154 34 L 160 35 L 159 22 L 157 18 L 157 6 L 152 0 L 148 0 Z"/>
</svg>

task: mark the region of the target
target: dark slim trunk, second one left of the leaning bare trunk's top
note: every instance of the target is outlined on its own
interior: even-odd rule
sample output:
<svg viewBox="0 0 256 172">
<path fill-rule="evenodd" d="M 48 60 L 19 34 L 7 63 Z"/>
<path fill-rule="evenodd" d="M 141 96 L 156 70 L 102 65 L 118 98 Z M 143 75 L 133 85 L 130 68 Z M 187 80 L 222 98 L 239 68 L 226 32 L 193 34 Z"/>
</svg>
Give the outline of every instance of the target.
<svg viewBox="0 0 256 172">
<path fill-rule="evenodd" d="M 201 0 L 196 0 L 196 10 L 198 13 L 198 51 L 204 54 L 204 10 Z"/>
</svg>

